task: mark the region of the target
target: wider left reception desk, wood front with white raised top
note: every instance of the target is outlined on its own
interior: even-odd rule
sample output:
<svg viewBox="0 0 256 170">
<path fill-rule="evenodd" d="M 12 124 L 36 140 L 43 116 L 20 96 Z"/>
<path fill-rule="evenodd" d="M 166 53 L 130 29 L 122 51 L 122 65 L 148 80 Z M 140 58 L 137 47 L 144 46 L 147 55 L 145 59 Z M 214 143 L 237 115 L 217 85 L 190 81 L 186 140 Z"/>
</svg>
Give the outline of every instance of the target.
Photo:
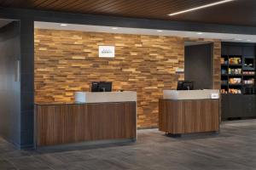
<svg viewBox="0 0 256 170">
<path fill-rule="evenodd" d="M 76 100 L 74 103 L 35 105 L 38 147 L 136 140 L 136 92 L 79 93 Z"/>
</svg>

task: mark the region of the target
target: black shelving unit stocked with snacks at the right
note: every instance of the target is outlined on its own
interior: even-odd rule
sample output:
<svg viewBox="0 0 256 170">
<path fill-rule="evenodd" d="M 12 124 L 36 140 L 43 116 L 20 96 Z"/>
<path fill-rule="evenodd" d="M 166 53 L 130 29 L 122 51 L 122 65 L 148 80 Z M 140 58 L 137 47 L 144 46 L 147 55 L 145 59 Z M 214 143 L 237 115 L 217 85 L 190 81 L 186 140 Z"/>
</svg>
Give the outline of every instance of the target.
<svg viewBox="0 0 256 170">
<path fill-rule="evenodd" d="M 256 117 L 255 47 L 253 43 L 222 43 L 223 120 Z"/>
</svg>

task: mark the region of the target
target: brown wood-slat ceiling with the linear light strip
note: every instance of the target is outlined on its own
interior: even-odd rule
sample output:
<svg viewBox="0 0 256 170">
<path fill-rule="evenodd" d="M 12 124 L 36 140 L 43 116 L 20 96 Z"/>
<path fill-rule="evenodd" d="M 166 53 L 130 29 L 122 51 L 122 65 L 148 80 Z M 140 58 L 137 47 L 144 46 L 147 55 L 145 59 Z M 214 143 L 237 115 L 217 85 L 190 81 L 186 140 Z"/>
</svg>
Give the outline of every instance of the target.
<svg viewBox="0 0 256 170">
<path fill-rule="evenodd" d="M 256 0 L 234 0 L 185 14 L 167 15 L 218 1 L 220 0 L 0 0 L 0 6 L 79 14 L 256 26 Z"/>
</svg>

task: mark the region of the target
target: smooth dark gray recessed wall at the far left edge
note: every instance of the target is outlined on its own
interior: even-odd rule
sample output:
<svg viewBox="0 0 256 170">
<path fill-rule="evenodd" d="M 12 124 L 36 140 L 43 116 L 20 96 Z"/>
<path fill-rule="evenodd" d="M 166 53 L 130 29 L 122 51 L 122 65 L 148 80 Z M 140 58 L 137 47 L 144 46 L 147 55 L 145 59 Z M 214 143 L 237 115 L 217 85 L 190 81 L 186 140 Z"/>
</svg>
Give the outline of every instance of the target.
<svg viewBox="0 0 256 170">
<path fill-rule="evenodd" d="M 20 145 L 20 22 L 0 29 L 0 135 Z"/>
</svg>

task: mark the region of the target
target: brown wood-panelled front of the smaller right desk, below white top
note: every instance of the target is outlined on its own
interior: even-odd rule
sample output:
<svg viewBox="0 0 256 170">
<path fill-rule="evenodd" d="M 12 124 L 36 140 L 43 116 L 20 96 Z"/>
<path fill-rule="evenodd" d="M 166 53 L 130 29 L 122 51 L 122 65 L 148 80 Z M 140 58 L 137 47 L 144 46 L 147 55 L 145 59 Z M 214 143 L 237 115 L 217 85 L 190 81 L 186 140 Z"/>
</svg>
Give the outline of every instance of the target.
<svg viewBox="0 0 256 170">
<path fill-rule="evenodd" d="M 166 133 L 216 132 L 219 128 L 218 99 L 160 99 L 159 111 L 160 131 Z"/>
</svg>

